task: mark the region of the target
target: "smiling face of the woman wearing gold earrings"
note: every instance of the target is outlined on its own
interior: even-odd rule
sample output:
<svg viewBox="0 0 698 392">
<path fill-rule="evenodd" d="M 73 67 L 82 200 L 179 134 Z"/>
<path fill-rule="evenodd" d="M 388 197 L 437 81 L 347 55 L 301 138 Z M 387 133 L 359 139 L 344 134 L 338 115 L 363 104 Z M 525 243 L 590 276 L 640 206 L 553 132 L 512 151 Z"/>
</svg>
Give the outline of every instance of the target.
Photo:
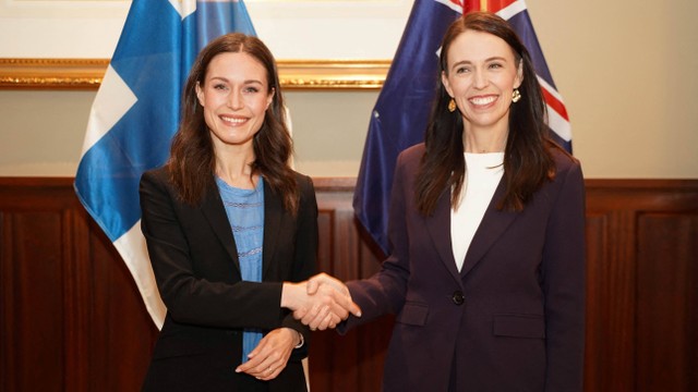
<svg viewBox="0 0 698 392">
<path fill-rule="evenodd" d="M 442 83 L 460 110 L 465 131 L 508 131 L 512 93 L 521 84 L 522 70 L 512 48 L 488 33 L 465 30 L 447 51 Z"/>
</svg>

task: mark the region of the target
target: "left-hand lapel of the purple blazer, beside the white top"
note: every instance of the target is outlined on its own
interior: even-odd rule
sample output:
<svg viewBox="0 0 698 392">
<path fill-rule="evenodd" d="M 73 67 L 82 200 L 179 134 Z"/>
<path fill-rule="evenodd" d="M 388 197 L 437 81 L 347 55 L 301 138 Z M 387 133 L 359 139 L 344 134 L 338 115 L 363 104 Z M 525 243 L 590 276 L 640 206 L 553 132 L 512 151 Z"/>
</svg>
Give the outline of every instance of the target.
<svg viewBox="0 0 698 392">
<path fill-rule="evenodd" d="M 429 232 L 438 256 L 457 282 L 460 282 L 454 249 L 450 244 L 450 192 L 444 192 L 432 217 L 425 218 Z"/>
</svg>

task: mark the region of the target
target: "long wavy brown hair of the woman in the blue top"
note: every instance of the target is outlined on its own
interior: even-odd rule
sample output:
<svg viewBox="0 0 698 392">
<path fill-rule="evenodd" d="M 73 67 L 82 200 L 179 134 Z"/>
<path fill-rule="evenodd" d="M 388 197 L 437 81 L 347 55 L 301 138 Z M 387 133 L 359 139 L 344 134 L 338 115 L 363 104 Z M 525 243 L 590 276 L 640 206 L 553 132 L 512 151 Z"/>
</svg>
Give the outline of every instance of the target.
<svg viewBox="0 0 698 392">
<path fill-rule="evenodd" d="M 200 53 L 182 93 L 182 120 L 172 139 L 167 167 L 179 196 L 191 205 L 198 204 L 215 183 L 214 145 L 196 97 L 196 84 L 204 85 L 210 61 L 220 53 L 246 53 L 266 69 L 267 94 L 274 93 L 264 123 L 253 139 L 255 160 L 252 174 L 264 177 L 269 188 L 280 195 L 284 207 L 296 213 L 300 192 L 289 159 L 293 145 L 286 125 L 286 109 L 276 61 L 269 49 L 256 37 L 240 33 L 220 36 Z"/>
</svg>

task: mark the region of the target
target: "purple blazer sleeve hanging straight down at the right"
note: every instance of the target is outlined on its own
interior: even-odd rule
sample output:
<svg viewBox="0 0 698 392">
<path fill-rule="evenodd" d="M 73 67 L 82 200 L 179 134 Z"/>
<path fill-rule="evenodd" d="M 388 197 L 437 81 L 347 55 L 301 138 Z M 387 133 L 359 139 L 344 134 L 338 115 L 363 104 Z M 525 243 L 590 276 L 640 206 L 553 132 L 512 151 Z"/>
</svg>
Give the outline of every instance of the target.
<svg viewBox="0 0 698 392">
<path fill-rule="evenodd" d="M 581 391 L 585 346 L 585 184 L 571 160 L 561 182 L 545 233 L 545 391 Z"/>
</svg>

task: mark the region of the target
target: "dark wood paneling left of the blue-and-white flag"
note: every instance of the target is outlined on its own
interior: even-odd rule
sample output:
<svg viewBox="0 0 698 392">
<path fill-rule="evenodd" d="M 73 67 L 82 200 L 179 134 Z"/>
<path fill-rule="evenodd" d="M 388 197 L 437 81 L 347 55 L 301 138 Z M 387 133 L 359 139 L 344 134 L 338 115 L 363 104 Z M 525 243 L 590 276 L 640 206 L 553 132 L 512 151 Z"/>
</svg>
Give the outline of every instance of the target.
<svg viewBox="0 0 698 392">
<path fill-rule="evenodd" d="M 137 391 L 157 329 L 70 179 L 0 179 L 0 390 Z"/>
</svg>

